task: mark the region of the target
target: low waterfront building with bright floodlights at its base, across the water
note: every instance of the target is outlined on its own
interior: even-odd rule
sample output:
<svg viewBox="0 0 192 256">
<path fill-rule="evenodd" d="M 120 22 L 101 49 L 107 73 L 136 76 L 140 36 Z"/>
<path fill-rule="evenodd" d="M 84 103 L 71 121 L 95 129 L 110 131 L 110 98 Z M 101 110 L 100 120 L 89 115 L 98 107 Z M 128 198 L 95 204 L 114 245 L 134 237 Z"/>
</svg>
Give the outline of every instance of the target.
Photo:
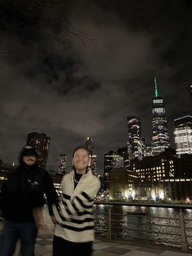
<svg viewBox="0 0 192 256">
<path fill-rule="evenodd" d="M 110 200 L 192 202 L 192 178 L 168 177 L 147 183 L 141 182 L 134 173 L 127 173 L 127 170 L 112 170 L 109 180 Z"/>
</svg>

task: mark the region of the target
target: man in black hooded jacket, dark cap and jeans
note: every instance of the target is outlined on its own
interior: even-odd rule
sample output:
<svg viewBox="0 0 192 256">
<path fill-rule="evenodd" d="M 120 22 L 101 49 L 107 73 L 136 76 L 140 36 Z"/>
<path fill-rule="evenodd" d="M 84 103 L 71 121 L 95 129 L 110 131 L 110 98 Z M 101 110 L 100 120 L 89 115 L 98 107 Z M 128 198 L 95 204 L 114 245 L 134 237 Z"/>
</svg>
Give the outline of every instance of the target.
<svg viewBox="0 0 192 256">
<path fill-rule="evenodd" d="M 58 204 L 51 176 L 38 167 L 35 149 L 24 147 L 19 162 L 19 167 L 10 173 L 1 188 L 4 226 L 0 256 L 12 256 L 18 239 L 21 242 L 20 255 L 33 256 L 38 228 L 40 222 L 43 223 L 41 207 L 44 204 L 44 193 L 49 205 Z M 51 217 L 55 222 L 54 216 Z"/>
</svg>

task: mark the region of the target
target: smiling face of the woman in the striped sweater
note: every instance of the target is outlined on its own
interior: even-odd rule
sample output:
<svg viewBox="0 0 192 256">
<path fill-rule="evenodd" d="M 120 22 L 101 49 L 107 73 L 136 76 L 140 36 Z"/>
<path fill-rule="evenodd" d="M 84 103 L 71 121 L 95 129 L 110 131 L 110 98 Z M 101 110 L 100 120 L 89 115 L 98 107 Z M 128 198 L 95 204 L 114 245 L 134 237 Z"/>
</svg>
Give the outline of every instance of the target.
<svg viewBox="0 0 192 256">
<path fill-rule="evenodd" d="M 77 170 L 84 170 L 89 164 L 88 152 L 84 148 L 79 148 L 74 154 L 72 164 Z"/>
</svg>

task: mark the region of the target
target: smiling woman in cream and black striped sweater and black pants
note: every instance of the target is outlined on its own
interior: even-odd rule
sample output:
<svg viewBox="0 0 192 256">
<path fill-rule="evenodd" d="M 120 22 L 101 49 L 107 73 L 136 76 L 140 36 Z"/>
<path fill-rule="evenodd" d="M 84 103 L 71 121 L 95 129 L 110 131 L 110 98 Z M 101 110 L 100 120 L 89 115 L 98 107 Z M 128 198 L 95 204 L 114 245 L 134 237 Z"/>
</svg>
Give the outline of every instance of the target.
<svg viewBox="0 0 192 256">
<path fill-rule="evenodd" d="M 100 180 L 88 170 L 86 147 L 74 150 L 73 170 L 61 181 L 62 195 L 58 205 L 52 205 L 56 218 L 53 256 L 92 254 L 94 241 L 93 203 L 100 188 Z"/>
</svg>

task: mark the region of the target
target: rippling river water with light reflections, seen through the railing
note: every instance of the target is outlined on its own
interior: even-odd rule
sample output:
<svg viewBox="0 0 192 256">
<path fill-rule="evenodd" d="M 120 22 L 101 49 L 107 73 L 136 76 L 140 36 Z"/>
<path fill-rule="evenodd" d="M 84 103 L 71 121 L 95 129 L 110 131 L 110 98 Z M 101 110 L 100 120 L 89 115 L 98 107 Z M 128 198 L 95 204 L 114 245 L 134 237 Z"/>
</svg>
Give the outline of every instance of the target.
<svg viewBox="0 0 192 256">
<path fill-rule="evenodd" d="M 95 205 L 96 231 L 102 236 L 108 231 L 108 205 Z M 127 212 L 142 211 L 147 212 L 147 217 L 130 216 Z M 186 227 L 192 227 L 192 210 L 182 210 Z M 173 220 L 156 219 L 155 217 L 173 218 Z M 135 207 L 127 205 L 111 206 L 111 230 L 113 237 L 120 235 L 122 239 L 129 239 L 129 236 L 141 237 L 143 239 L 158 239 L 163 243 L 172 246 L 180 246 L 180 223 L 179 209 L 163 207 Z M 139 224 L 138 224 L 139 223 Z M 171 225 L 173 227 L 158 227 L 157 225 Z M 164 233 L 164 234 L 161 234 Z M 169 233 L 169 234 L 168 234 Z M 187 236 L 192 236 L 192 229 L 186 230 Z M 179 244 L 170 244 L 174 241 Z M 192 244 L 191 237 L 188 243 Z"/>
</svg>

